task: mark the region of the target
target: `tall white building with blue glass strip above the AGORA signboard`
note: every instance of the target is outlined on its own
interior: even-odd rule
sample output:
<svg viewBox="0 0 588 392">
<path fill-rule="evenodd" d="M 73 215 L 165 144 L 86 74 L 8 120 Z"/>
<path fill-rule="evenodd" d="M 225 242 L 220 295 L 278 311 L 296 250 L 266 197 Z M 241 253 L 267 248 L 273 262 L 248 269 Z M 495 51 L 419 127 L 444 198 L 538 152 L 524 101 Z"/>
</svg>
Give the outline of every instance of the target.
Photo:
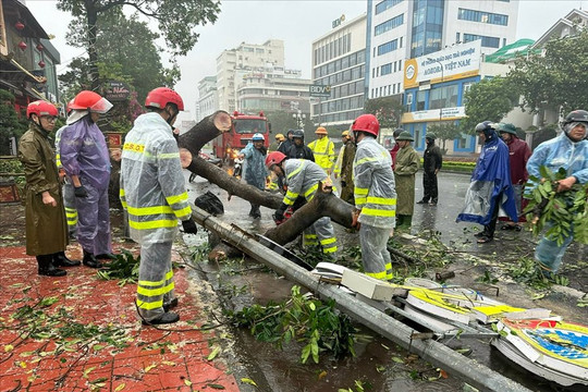
<svg viewBox="0 0 588 392">
<path fill-rule="evenodd" d="M 404 91 L 404 60 L 481 42 L 481 54 L 512 44 L 518 0 L 368 0 L 368 97 Z"/>
</svg>

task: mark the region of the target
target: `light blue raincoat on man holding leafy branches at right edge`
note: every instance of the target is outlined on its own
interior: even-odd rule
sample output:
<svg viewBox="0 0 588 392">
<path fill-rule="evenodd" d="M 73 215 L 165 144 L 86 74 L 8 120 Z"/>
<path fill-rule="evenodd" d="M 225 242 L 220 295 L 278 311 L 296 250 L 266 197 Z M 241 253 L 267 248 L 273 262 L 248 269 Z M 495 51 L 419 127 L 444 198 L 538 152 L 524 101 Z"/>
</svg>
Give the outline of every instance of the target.
<svg viewBox="0 0 588 392">
<path fill-rule="evenodd" d="M 529 175 L 541 177 L 539 168 L 547 166 L 551 171 L 556 172 L 564 168 L 567 175 L 574 175 L 580 184 L 588 183 L 588 140 L 573 142 L 562 132 L 562 134 L 551 140 L 541 143 L 527 161 Z M 532 189 L 536 184 L 531 181 L 527 183 L 527 188 Z M 574 240 L 573 228 L 562 245 L 543 235 L 535 249 L 535 259 L 541 266 L 552 272 L 556 272 L 562 265 L 565 250 Z"/>
</svg>

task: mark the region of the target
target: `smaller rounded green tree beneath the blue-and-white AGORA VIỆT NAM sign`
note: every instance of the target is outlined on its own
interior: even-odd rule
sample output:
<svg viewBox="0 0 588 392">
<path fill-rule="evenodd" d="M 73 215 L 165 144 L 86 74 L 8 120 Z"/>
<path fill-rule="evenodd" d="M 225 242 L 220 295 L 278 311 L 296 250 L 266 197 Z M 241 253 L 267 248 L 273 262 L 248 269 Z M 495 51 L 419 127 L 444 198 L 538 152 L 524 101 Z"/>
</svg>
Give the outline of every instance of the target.
<svg viewBox="0 0 588 392">
<path fill-rule="evenodd" d="M 460 127 L 474 134 L 482 121 L 500 122 L 517 102 L 518 90 L 506 77 L 487 78 L 473 85 L 465 94 L 465 114 Z"/>
</svg>

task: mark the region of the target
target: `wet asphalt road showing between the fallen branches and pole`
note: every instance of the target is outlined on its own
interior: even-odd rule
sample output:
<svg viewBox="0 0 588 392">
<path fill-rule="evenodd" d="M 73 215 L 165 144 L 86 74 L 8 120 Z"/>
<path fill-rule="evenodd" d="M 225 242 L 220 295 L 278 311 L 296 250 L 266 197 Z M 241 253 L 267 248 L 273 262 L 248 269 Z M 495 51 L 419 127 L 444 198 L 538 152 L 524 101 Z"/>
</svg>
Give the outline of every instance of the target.
<svg viewBox="0 0 588 392">
<path fill-rule="evenodd" d="M 187 173 L 186 173 L 187 179 Z M 485 258 L 512 257 L 532 255 L 532 238 L 528 233 L 497 231 L 495 241 L 491 244 L 478 245 L 473 233 L 476 225 L 455 223 L 455 217 L 463 206 L 464 195 L 469 183 L 469 176 L 464 174 L 441 173 L 439 176 L 440 200 L 437 207 L 415 206 L 413 234 L 424 231 L 434 231 L 441 241 L 455 253 L 477 255 Z M 206 191 L 211 191 L 223 201 L 224 211 L 220 216 L 224 222 L 235 223 L 250 233 L 264 233 L 273 226 L 270 209 L 261 207 L 261 219 L 252 220 L 247 217 L 249 204 L 238 197 L 228 200 L 228 195 L 213 184 L 197 177 L 191 184 L 189 194 L 193 200 Z M 422 195 L 421 176 L 417 175 L 416 197 Z M 335 224 L 335 231 L 341 247 L 358 244 L 357 234 L 350 234 Z M 198 236 L 200 243 L 204 236 Z M 406 242 L 406 241 L 404 241 Z M 408 241 L 409 242 L 409 241 Z M 191 245 L 198 245 L 193 243 Z M 586 247 L 573 245 L 564 261 L 573 264 L 586 260 Z M 280 302 L 289 297 L 293 283 L 275 275 L 249 259 L 244 259 L 228 267 L 219 264 L 201 262 L 199 268 L 207 279 L 224 293 L 224 306 L 240 309 L 253 303 L 267 304 L 269 301 Z M 483 265 L 470 261 L 456 262 L 449 268 L 456 277 L 452 284 L 473 284 L 476 277 L 486 271 Z M 237 271 L 238 270 L 238 271 Z M 583 292 L 587 291 L 588 278 L 586 269 L 576 271 L 571 285 Z M 587 308 L 576 306 L 562 293 L 551 293 L 538 301 L 531 301 L 527 289 L 515 283 L 497 283 L 500 286 L 499 299 L 507 304 L 524 307 L 548 307 L 563 315 L 568 321 L 586 323 Z M 229 295 L 228 295 L 229 293 Z M 360 328 L 360 326 L 358 326 Z M 360 328 L 360 333 L 369 336 L 356 345 L 356 356 L 341 360 L 321 357 L 320 363 L 302 365 L 299 362 L 301 346 L 292 344 L 283 351 L 270 343 L 257 342 L 248 331 L 235 331 L 235 363 L 245 366 L 247 377 L 254 379 L 262 391 L 462 391 L 464 382 L 446 376 L 440 369 L 427 364 L 394 343 Z M 482 339 L 460 339 L 449 343 L 454 348 L 469 348 L 470 358 L 492 368 L 493 370 L 516 380 L 532 391 L 562 390 L 553 383 L 531 376 L 529 372 L 511 363 Z M 253 376 L 252 376 L 253 375 Z M 238 376 L 238 375 L 237 375 Z M 362 385 L 360 389 L 358 385 Z"/>
</svg>

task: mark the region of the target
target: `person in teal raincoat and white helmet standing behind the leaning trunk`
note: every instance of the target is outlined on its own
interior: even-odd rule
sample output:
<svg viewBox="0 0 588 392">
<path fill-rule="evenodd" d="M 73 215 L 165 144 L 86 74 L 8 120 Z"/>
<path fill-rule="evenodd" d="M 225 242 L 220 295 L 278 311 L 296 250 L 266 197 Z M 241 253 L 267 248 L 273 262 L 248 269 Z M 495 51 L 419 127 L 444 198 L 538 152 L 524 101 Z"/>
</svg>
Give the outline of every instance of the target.
<svg viewBox="0 0 588 392">
<path fill-rule="evenodd" d="M 241 150 L 238 155 L 240 159 L 245 159 L 245 170 L 244 177 L 247 184 L 255 186 L 259 191 L 266 189 L 266 155 L 267 149 L 264 147 L 265 137 L 260 133 L 256 133 L 252 143 Z M 253 219 L 261 218 L 261 212 L 259 211 L 259 205 L 249 203 L 252 209 L 249 210 L 249 217 Z"/>
</svg>

